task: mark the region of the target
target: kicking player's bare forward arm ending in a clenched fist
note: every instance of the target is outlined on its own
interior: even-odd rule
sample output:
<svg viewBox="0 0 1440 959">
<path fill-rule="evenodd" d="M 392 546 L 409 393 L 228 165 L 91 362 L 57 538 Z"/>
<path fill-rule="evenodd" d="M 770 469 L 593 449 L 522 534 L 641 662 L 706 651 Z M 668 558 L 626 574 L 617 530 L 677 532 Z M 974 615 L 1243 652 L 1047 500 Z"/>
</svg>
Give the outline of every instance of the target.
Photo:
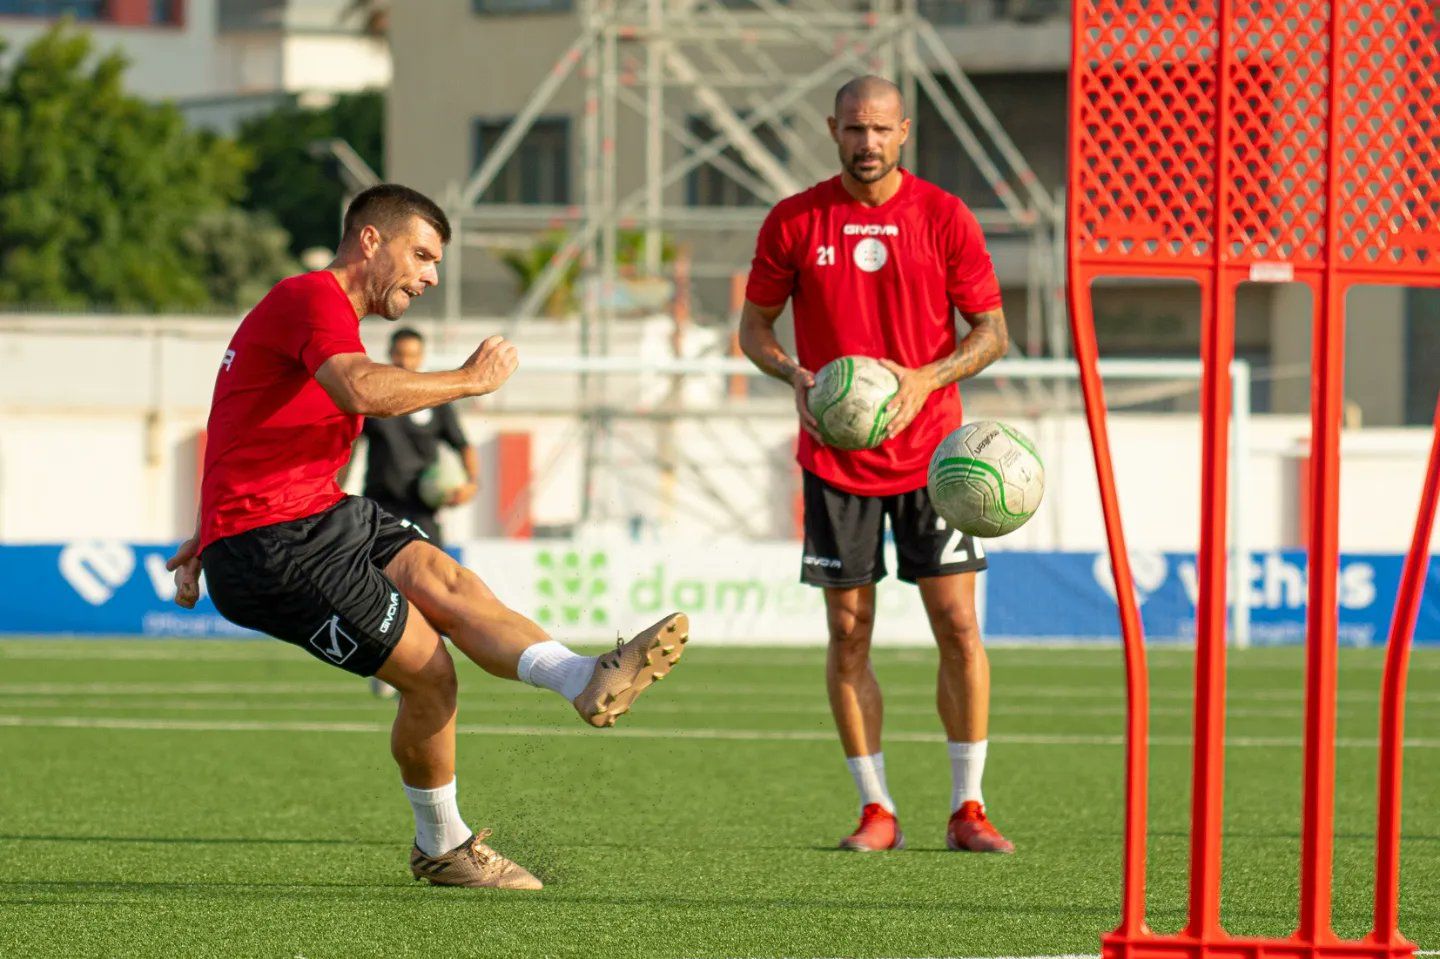
<svg viewBox="0 0 1440 959">
<path fill-rule="evenodd" d="M 498 390 L 520 364 L 513 343 L 490 337 L 458 370 L 410 373 L 363 353 L 341 353 L 320 364 L 315 380 L 336 406 L 360 416 L 403 416 L 465 396 Z"/>
</svg>

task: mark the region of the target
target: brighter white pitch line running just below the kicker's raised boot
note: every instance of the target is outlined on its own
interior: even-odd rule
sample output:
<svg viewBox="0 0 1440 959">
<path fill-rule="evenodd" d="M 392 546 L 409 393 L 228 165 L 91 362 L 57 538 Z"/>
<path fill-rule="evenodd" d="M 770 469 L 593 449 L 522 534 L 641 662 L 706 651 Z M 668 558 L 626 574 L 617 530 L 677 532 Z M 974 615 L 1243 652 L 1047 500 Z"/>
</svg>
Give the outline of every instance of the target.
<svg viewBox="0 0 1440 959">
<path fill-rule="evenodd" d="M 0 716 L 0 727 L 27 729 L 111 729 L 135 731 L 190 731 L 190 733 L 387 733 L 389 723 L 317 723 L 304 720 L 176 720 L 148 717 L 105 717 L 105 716 Z M 468 736 L 540 736 L 570 737 L 598 736 L 603 739 L 694 739 L 736 742 L 806 742 L 832 743 L 835 734 L 821 730 L 762 730 L 762 729 L 616 729 L 598 733 L 592 729 L 559 726 L 490 726 L 461 723 L 458 733 Z M 943 743 L 943 733 L 890 733 L 887 739 L 901 743 Z M 1054 736 L 1054 734 L 996 734 L 995 743 L 1024 746 L 1123 746 L 1123 736 Z M 1191 746 L 1188 736 L 1152 736 L 1152 746 Z M 1300 740 L 1284 736 L 1231 736 L 1227 746 L 1234 747 L 1289 747 L 1299 749 Z M 1341 737 L 1335 740 L 1341 749 L 1375 749 L 1368 739 Z M 1440 739 L 1407 739 L 1405 749 L 1440 749 Z"/>
</svg>

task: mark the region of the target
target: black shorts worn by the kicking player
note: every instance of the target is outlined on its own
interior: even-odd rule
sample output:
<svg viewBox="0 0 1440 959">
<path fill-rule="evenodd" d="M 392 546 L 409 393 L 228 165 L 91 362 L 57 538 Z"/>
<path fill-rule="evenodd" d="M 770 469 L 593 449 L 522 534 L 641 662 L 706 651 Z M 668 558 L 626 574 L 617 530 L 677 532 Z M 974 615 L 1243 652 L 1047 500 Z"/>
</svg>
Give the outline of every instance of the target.
<svg viewBox="0 0 1440 959">
<path fill-rule="evenodd" d="M 346 497 L 288 523 L 228 536 L 200 566 L 230 622 L 292 642 L 317 659 L 374 675 L 405 632 L 410 603 L 382 572 L 426 539 L 370 500 Z"/>
</svg>

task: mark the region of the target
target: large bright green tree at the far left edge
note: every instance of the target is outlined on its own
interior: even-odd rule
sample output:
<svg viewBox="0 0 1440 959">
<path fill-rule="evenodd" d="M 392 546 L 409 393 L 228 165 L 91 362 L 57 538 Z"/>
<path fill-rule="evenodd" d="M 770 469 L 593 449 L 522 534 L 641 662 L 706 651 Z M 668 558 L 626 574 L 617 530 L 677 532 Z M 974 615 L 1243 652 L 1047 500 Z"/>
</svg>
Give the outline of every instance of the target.
<svg viewBox="0 0 1440 959">
<path fill-rule="evenodd" d="M 246 156 L 125 94 L 124 72 L 66 23 L 0 69 L 0 302 L 210 305 L 186 238 L 239 200 Z"/>
</svg>

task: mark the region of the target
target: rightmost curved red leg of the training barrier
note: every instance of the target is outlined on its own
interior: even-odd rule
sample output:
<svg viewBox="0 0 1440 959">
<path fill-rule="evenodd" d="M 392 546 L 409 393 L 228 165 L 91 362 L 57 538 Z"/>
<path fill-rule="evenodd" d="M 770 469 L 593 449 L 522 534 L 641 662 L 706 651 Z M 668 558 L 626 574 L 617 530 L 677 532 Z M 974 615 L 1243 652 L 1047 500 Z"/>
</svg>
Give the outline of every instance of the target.
<svg viewBox="0 0 1440 959">
<path fill-rule="evenodd" d="M 1430 531 L 1436 524 L 1440 503 L 1440 397 L 1436 400 L 1434 439 L 1430 444 L 1430 465 L 1426 484 L 1420 490 L 1420 511 L 1416 533 L 1405 554 L 1395 596 L 1395 618 L 1390 623 L 1390 647 L 1385 649 L 1385 675 L 1380 693 L 1380 798 L 1375 803 L 1375 927 L 1377 942 L 1404 945 L 1400 936 L 1400 778 L 1405 736 L 1405 674 L 1410 668 L 1410 642 L 1416 635 L 1420 596 L 1430 569 Z"/>
</svg>

